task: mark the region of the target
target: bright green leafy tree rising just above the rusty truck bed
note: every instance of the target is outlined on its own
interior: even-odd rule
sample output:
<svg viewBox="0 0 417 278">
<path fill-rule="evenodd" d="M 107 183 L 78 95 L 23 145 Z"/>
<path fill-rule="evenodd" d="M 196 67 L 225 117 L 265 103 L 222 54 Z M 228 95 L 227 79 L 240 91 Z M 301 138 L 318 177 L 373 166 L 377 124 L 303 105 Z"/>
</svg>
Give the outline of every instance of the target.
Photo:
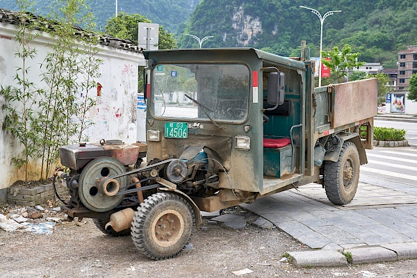
<svg viewBox="0 0 417 278">
<path fill-rule="evenodd" d="M 352 53 L 352 47 L 349 44 L 345 44 L 342 50 L 339 50 L 338 47 L 333 47 L 330 51 L 322 51 L 322 57 L 331 58 L 331 60 L 322 59 L 322 63 L 329 67 L 332 73 L 331 79 L 338 83 L 350 70 L 364 64 L 364 62 L 358 61 L 358 56 L 358 52 Z"/>
</svg>

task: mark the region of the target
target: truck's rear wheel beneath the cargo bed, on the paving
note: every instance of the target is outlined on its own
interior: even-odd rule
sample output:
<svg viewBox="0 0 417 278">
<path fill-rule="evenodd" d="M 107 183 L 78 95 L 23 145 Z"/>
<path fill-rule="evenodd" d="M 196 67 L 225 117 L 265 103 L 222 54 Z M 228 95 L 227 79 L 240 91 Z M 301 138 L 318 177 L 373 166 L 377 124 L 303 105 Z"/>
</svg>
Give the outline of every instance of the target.
<svg viewBox="0 0 417 278">
<path fill-rule="evenodd" d="M 338 161 L 325 163 L 325 190 L 333 204 L 349 204 L 359 183 L 359 152 L 352 142 L 344 142 Z"/>
</svg>

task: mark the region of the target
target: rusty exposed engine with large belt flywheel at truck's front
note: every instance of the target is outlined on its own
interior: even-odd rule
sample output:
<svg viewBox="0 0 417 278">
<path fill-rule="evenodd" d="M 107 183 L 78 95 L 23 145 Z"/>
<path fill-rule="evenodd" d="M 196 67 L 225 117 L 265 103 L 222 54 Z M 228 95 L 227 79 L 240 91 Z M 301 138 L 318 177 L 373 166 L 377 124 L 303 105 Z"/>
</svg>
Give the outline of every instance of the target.
<svg viewBox="0 0 417 278">
<path fill-rule="evenodd" d="M 145 143 L 121 140 L 60 147 L 61 164 L 70 168 L 69 173 L 57 172 L 70 193 L 70 202 L 61 210 L 70 218 L 108 220 L 124 208 L 136 209 L 144 195 L 156 193 L 159 187 L 201 197 L 218 185 L 211 158 L 203 149 L 188 149 L 179 158 L 155 158 L 145 164 L 146 151 Z"/>
</svg>

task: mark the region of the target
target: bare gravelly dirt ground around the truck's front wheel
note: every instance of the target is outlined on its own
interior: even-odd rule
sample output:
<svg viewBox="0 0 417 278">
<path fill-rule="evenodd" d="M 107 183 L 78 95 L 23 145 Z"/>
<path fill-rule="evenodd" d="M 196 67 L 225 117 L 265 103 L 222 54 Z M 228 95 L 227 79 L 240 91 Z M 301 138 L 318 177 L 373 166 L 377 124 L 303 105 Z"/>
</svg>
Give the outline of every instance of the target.
<svg viewBox="0 0 417 278">
<path fill-rule="evenodd" d="M 246 212 L 251 222 L 256 216 Z M 3 210 L 3 214 L 6 214 Z M 278 229 L 250 224 L 236 231 L 204 220 L 194 233 L 194 250 L 174 259 L 142 256 L 130 236 L 102 234 L 90 219 L 58 222 L 52 234 L 0 229 L 0 277 L 417 277 L 417 261 L 341 268 L 302 268 L 280 262 L 282 254 L 309 250 Z"/>
</svg>

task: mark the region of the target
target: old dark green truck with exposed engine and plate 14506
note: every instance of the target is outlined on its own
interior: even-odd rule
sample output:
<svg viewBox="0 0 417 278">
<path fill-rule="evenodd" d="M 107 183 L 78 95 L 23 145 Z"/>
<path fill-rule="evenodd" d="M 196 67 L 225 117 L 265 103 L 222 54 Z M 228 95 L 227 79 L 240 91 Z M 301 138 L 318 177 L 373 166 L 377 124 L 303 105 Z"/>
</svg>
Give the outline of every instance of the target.
<svg viewBox="0 0 417 278">
<path fill-rule="evenodd" d="M 183 250 L 200 211 L 307 183 L 334 204 L 352 200 L 373 147 L 376 79 L 314 88 L 305 47 L 300 58 L 250 48 L 144 55 L 147 142 L 61 147 L 70 219 L 131 235 L 158 260 Z"/>
</svg>

